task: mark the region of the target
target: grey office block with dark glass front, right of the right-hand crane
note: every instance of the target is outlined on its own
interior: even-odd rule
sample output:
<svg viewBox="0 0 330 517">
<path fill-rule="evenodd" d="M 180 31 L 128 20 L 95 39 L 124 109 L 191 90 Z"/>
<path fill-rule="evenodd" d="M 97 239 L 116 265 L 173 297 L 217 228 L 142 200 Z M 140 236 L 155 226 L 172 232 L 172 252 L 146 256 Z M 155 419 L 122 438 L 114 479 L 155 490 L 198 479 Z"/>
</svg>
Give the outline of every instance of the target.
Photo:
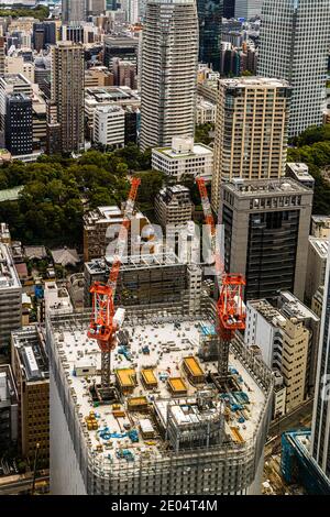
<svg viewBox="0 0 330 517">
<path fill-rule="evenodd" d="M 246 299 L 304 299 L 311 206 L 312 190 L 290 178 L 222 184 L 224 267 L 245 276 Z"/>
</svg>

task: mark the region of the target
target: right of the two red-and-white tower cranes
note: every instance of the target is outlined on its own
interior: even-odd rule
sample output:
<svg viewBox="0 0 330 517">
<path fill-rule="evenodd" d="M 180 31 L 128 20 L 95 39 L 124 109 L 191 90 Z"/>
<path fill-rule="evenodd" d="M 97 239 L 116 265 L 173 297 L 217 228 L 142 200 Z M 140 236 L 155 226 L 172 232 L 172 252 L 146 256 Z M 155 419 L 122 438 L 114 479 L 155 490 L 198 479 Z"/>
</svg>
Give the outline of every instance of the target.
<svg viewBox="0 0 330 517">
<path fill-rule="evenodd" d="M 243 302 L 243 288 L 246 284 L 241 274 L 224 272 L 224 263 L 221 251 L 217 246 L 217 228 L 208 197 L 205 180 L 197 178 L 201 206 L 206 223 L 210 226 L 211 246 L 215 253 L 216 274 L 219 280 L 220 295 L 217 301 L 217 314 L 219 319 L 218 334 L 220 338 L 218 371 L 221 376 L 228 375 L 229 345 L 237 330 L 245 329 L 245 309 Z"/>
</svg>

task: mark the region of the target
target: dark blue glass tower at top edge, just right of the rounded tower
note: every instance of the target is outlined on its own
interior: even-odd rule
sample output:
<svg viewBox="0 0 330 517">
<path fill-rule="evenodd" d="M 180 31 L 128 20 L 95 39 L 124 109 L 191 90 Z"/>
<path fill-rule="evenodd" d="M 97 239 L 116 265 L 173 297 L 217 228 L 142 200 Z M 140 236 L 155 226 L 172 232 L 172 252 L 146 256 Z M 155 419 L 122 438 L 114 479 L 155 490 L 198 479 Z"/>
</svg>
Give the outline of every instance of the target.
<svg viewBox="0 0 330 517">
<path fill-rule="evenodd" d="M 199 57 L 213 70 L 220 70 L 223 0 L 197 0 L 199 22 Z"/>
</svg>

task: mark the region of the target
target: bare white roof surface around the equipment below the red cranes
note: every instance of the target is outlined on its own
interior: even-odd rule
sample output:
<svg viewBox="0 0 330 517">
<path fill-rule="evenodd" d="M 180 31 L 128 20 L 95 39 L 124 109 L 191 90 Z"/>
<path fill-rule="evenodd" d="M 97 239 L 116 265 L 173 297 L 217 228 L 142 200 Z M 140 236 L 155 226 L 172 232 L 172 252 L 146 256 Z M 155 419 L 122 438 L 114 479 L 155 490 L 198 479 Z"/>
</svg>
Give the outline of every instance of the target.
<svg viewBox="0 0 330 517">
<path fill-rule="evenodd" d="M 70 318 L 52 318 L 51 321 L 54 345 L 58 351 L 62 369 L 66 372 L 66 382 L 70 387 L 69 396 L 74 397 L 72 404 L 79 405 L 79 419 L 88 448 L 97 451 L 97 447 L 102 444 L 103 450 L 98 451 L 98 454 L 107 460 L 110 453 L 112 462 L 122 461 L 116 455 L 116 451 L 122 448 L 130 450 L 135 458 L 146 450 L 162 458 L 164 455 L 162 436 L 156 432 L 152 444 L 150 444 L 148 440 L 139 432 L 141 420 L 146 418 L 145 414 L 139 413 L 139 407 L 141 406 L 141 411 L 143 408 L 148 409 L 147 418 L 152 419 L 153 411 L 158 411 L 166 421 L 166 407 L 168 403 L 173 402 L 173 410 L 175 416 L 177 414 L 177 418 L 190 415 L 189 418 L 197 418 L 196 421 L 198 418 L 202 420 L 202 414 L 199 414 L 196 404 L 196 394 L 199 389 L 208 388 L 209 385 L 207 381 L 201 388 L 193 385 L 183 367 L 183 362 L 184 358 L 196 358 L 202 336 L 201 328 L 211 327 L 213 321 L 191 318 L 182 321 L 180 328 L 176 327 L 176 321 L 162 320 L 138 324 L 127 321 L 124 329 L 129 340 L 130 354 L 123 354 L 120 351 L 123 345 L 118 343 L 111 355 L 111 380 L 116 382 L 118 378 L 123 385 L 129 386 L 130 395 L 122 394 L 120 402 L 116 403 L 113 407 L 109 405 L 95 407 L 90 397 L 89 387 L 94 385 L 94 382 L 97 384 L 100 382 L 101 354 L 97 342 L 87 337 L 88 321 L 88 315 L 78 314 Z M 145 345 L 148 346 L 148 353 L 142 351 Z M 88 377 L 85 376 L 86 374 L 84 376 L 75 375 L 75 365 L 81 356 L 95 366 L 94 373 Z M 243 426 L 239 422 L 240 413 L 231 410 L 231 406 L 228 406 L 228 411 L 232 417 L 231 425 L 238 428 L 242 440 L 246 441 L 255 432 L 265 404 L 265 392 L 232 352 L 229 355 L 229 365 L 231 371 L 238 374 L 239 387 L 237 389 L 249 394 L 249 404 L 244 406 L 243 410 Z M 202 367 L 206 370 L 206 374 L 216 373 L 218 363 L 217 361 L 208 361 L 202 364 Z M 144 387 L 141 380 L 141 375 L 146 371 L 150 372 L 147 375 L 153 375 L 157 381 L 157 385 L 152 389 Z M 133 383 L 133 375 L 135 375 L 136 383 Z M 193 413 L 185 411 L 184 406 L 187 405 L 187 402 L 178 400 L 177 397 L 174 400 L 173 395 L 176 393 L 179 397 L 183 397 L 183 394 L 184 397 L 188 397 L 194 409 Z M 118 410 L 121 411 L 122 417 L 116 417 L 118 414 L 113 415 L 113 411 Z M 89 416 L 90 411 L 95 411 L 98 429 L 87 429 L 85 418 Z M 124 432 L 127 426 L 138 430 L 139 442 L 132 441 Z M 226 426 L 226 432 L 230 437 L 231 431 L 227 424 Z M 102 438 L 102 430 L 106 428 L 111 431 L 111 438 L 109 436 Z M 232 441 L 235 442 L 234 438 Z M 107 446 L 109 442 L 111 442 L 110 450 Z"/>
</svg>

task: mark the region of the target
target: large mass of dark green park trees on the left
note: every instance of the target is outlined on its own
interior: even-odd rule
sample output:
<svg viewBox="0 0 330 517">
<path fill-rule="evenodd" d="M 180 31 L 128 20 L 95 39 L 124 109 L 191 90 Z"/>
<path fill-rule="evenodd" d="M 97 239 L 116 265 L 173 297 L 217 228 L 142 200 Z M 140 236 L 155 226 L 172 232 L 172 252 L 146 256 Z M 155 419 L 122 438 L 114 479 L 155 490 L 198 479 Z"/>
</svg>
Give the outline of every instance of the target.
<svg viewBox="0 0 330 517">
<path fill-rule="evenodd" d="M 84 213 L 98 206 L 120 206 L 128 196 L 131 175 L 142 179 L 140 208 L 153 206 L 163 175 L 150 167 L 150 152 L 141 153 L 133 144 L 112 153 L 89 151 L 77 160 L 43 155 L 32 164 L 4 164 L 0 189 L 24 188 L 16 201 L 0 204 L 0 221 L 24 244 L 81 249 Z"/>
</svg>

